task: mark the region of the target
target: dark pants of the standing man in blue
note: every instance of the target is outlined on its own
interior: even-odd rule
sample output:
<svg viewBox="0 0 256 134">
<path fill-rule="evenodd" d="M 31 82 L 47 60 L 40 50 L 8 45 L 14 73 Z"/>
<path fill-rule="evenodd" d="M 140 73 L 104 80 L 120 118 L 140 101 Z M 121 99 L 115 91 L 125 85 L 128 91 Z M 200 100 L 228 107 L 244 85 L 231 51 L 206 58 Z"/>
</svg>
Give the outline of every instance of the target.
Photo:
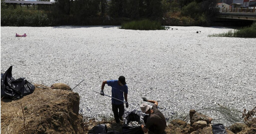
<svg viewBox="0 0 256 134">
<path fill-rule="evenodd" d="M 119 112 L 118 112 L 118 110 L 119 110 Z M 120 104 L 120 105 L 112 104 L 112 111 L 114 113 L 115 123 L 120 123 L 119 119 L 121 119 L 122 115 L 124 114 L 124 106 L 123 106 L 123 104 Z"/>
</svg>

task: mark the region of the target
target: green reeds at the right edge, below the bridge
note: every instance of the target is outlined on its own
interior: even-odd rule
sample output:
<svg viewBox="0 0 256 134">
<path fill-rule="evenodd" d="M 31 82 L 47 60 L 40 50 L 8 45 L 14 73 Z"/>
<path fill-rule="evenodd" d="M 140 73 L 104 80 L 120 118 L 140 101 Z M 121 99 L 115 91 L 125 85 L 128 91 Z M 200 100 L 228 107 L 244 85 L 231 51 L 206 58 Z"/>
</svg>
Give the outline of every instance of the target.
<svg viewBox="0 0 256 134">
<path fill-rule="evenodd" d="M 209 36 L 219 36 L 219 37 L 241 37 L 241 38 L 256 38 L 256 22 L 252 25 L 243 27 L 239 30 L 229 30 L 225 33 L 212 34 Z"/>
</svg>

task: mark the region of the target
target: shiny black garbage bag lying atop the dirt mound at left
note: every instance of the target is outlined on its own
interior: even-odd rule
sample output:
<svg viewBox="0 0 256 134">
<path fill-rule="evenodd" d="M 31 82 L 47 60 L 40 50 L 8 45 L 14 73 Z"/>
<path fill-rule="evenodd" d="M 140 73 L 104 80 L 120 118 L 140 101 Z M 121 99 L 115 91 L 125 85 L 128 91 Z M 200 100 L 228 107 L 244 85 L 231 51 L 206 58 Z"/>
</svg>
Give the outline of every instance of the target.
<svg viewBox="0 0 256 134">
<path fill-rule="evenodd" d="M 32 94 L 34 86 L 25 78 L 14 79 L 11 75 L 12 66 L 4 74 L 1 74 L 1 98 L 20 99 Z"/>
</svg>

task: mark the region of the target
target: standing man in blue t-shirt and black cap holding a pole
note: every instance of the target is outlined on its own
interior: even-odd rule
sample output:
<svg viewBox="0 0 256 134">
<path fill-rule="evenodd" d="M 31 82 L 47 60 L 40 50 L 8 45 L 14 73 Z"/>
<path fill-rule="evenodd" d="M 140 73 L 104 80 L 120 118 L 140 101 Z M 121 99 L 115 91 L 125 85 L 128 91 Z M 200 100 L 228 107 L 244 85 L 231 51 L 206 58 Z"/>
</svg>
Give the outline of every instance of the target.
<svg viewBox="0 0 256 134">
<path fill-rule="evenodd" d="M 112 87 L 111 93 L 113 98 L 123 100 L 123 93 L 124 93 L 124 99 L 125 99 L 125 102 L 127 102 L 128 87 L 126 85 L 124 76 L 120 76 L 118 80 L 103 81 L 101 85 L 101 91 L 100 91 L 100 95 L 102 96 L 104 96 L 103 89 L 105 84 Z M 123 102 L 115 100 L 113 98 L 111 99 L 111 103 L 112 103 L 112 111 L 114 113 L 114 120 L 115 120 L 115 123 L 119 124 L 120 120 L 123 121 L 122 115 L 124 114 L 124 106 L 123 106 Z M 128 108 L 128 103 L 126 103 L 125 107 Z"/>
</svg>

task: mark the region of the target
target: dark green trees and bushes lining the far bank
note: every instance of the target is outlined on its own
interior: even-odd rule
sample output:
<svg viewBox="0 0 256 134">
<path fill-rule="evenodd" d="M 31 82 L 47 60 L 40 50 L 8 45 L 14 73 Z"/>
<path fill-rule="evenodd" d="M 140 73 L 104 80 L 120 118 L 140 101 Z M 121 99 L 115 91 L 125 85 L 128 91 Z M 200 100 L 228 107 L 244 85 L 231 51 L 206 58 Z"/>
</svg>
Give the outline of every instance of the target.
<svg viewBox="0 0 256 134">
<path fill-rule="evenodd" d="M 216 0 L 56 0 L 50 8 L 7 6 L 1 26 L 120 25 L 146 18 L 161 25 L 210 25 Z"/>
</svg>

